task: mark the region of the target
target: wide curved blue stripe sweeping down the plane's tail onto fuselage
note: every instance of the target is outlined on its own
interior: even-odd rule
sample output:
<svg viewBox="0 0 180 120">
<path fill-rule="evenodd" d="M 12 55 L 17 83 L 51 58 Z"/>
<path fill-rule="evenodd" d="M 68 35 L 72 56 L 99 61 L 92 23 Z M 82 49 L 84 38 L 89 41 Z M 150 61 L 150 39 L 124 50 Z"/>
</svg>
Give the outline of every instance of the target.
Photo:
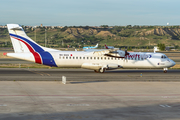
<svg viewBox="0 0 180 120">
<path fill-rule="evenodd" d="M 41 56 L 41 59 L 42 59 L 42 62 L 43 62 L 43 65 L 48 65 L 48 66 L 55 66 L 57 67 L 55 61 L 54 61 L 54 58 L 53 56 L 47 52 L 47 51 L 44 51 L 44 49 L 42 49 L 39 45 L 37 45 L 36 43 L 24 38 L 24 37 L 21 37 L 19 35 L 15 35 L 15 34 L 11 34 L 10 33 L 10 36 L 14 36 L 16 38 L 19 38 L 21 40 L 24 40 L 26 43 L 28 43 L 30 46 L 32 46 L 32 48 L 35 50 L 35 52 L 38 52 Z"/>
</svg>

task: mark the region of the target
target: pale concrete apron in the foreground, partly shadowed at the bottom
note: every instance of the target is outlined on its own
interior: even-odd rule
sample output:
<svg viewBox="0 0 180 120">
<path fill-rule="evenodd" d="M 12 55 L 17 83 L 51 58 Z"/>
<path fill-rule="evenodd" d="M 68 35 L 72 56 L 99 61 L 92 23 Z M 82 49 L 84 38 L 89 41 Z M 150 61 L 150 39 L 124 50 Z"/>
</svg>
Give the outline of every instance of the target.
<svg viewBox="0 0 180 120">
<path fill-rule="evenodd" d="M 179 120 L 180 82 L 0 81 L 0 120 Z"/>
</svg>

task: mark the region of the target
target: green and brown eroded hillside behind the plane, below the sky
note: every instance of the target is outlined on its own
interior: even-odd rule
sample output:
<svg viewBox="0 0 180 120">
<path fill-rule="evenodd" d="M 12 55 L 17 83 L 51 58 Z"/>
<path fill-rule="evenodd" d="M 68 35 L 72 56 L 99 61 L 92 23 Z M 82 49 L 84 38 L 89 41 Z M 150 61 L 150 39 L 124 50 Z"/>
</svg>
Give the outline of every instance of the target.
<svg viewBox="0 0 180 120">
<path fill-rule="evenodd" d="M 26 28 L 27 35 L 44 45 L 45 27 Z M 179 26 L 113 26 L 98 27 L 64 27 L 46 28 L 46 39 L 49 47 L 79 47 L 79 45 L 100 46 L 105 43 L 113 46 L 154 46 L 158 43 L 165 45 L 180 45 Z M 35 37 L 36 32 L 36 37 Z M 7 29 L 0 28 L 0 46 L 10 46 L 11 42 Z"/>
</svg>

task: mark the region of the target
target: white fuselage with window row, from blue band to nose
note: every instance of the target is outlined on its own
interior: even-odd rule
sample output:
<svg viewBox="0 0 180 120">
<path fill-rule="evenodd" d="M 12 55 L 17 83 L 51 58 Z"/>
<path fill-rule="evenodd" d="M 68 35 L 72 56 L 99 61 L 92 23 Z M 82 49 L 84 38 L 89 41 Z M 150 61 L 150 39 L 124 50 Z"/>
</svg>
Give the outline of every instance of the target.
<svg viewBox="0 0 180 120">
<path fill-rule="evenodd" d="M 169 58 L 161 58 L 162 53 L 132 52 L 126 58 L 93 55 L 84 51 L 50 52 L 58 67 L 81 67 L 83 63 L 118 64 L 123 68 L 165 68 L 175 63 Z"/>
</svg>

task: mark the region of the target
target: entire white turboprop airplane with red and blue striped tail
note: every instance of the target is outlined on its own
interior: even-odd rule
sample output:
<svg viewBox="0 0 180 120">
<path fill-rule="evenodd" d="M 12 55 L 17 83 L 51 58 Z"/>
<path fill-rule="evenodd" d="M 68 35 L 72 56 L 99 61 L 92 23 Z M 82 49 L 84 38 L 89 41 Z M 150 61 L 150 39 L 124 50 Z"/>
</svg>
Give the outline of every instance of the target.
<svg viewBox="0 0 180 120">
<path fill-rule="evenodd" d="M 55 67 L 79 67 L 104 73 L 118 68 L 162 68 L 167 72 L 175 62 L 162 53 L 144 53 L 105 49 L 98 51 L 60 51 L 38 45 L 18 24 L 7 24 L 15 57 Z"/>
</svg>

